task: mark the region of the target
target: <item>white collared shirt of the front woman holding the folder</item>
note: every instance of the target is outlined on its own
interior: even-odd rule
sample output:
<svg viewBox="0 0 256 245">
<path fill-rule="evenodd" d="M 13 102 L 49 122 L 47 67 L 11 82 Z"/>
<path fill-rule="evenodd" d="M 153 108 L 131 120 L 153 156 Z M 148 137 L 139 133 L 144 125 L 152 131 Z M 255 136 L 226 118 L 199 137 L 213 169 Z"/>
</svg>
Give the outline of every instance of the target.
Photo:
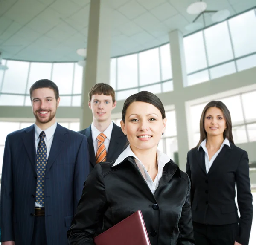
<svg viewBox="0 0 256 245">
<path fill-rule="evenodd" d="M 120 154 L 120 156 L 118 157 L 118 159 L 116 159 L 116 162 L 113 164 L 113 166 L 120 164 L 128 156 L 134 157 L 135 163 L 137 164 L 138 168 L 140 169 L 140 173 L 142 174 L 145 181 L 147 182 L 149 189 L 154 194 L 154 192 L 156 191 L 156 189 L 158 187 L 159 181 L 163 175 L 163 167 L 165 166 L 166 163 L 168 163 L 170 161 L 169 156 L 160 152 L 160 150 L 157 150 L 158 173 L 157 173 L 157 176 L 155 177 L 154 181 L 149 176 L 143 163 L 137 158 L 137 156 L 135 156 L 135 154 L 131 150 L 130 145 Z"/>
</svg>

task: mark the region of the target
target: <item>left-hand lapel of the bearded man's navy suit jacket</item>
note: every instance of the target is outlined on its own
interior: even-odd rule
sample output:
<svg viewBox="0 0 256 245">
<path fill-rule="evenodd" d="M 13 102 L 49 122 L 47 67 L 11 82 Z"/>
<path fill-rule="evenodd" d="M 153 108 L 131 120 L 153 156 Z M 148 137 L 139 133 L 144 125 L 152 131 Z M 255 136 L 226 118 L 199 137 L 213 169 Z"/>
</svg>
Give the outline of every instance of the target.
<svg viewBox="0 0 256 245">
<path fill-rule="evenodd" d="M 30 163 L 33 170 L 35 170 L 35 127 L 34 124 L 25 129 L 25 133 L 22 135 L 22 140 L 26 148 L 26 152 L 29 156 Z"/>
</svg>

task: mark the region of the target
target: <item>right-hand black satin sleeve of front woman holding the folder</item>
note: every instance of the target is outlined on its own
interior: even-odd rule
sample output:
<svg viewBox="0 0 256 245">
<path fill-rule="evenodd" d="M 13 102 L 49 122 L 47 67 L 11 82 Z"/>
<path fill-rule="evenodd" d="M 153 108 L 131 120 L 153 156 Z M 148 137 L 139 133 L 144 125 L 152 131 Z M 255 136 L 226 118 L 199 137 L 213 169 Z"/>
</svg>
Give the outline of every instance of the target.
<svg viewBox="0 0 256 245">
<path fill-rule="evenodd" d="M 188 178 L 188 190 L 186 195 L 186 201 L 182 207 L 179 230 L 180 234 L 177 240 L 177 245 L 195 245 L 193 225 L 192 225 L 192 213 L 190 205 L 190 180 Z"/>
</svg>

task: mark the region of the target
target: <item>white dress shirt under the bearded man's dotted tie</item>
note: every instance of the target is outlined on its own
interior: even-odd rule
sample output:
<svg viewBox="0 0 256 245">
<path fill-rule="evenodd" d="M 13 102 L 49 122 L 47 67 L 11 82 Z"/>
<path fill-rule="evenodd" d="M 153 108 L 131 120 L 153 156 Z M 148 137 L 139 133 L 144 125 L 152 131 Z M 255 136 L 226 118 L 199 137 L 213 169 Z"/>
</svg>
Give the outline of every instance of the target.
<svg viewBox="0 0 256 245">
<path fill-rule="evenodd" d="M 46 130 L 41 130 L 36 124 L 35 126 L 35 153 L 37 151 L 38 143 L 39 143 L 39 135 L 42 131 L 45 133 L 44 142 L 46 144 L 46 150 L 47 150 L 47 159 L 49 157 L 49 153 L 52 147 L 52 141 L 53 141 L 53 135 L 55 133 L 57 122 L 53 124 L 51 127 L 47 128 Z M 35 202 L 35 207 L 42 207 L 38 202 Z"/>
</svg>

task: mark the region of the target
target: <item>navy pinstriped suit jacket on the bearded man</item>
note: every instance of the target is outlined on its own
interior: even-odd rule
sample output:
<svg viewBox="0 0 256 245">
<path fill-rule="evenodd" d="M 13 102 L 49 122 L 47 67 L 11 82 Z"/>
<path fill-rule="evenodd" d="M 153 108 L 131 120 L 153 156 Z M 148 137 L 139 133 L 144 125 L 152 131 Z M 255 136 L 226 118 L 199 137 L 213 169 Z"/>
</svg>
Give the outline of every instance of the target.
<svg viewBox="0 0 256 245">
<path fill-rule="evenodd" d="M 34 228 L 36 167 L 34 125 L 6 138 L 1 183 L 1 242 L 30 245 Z M 87 139 L 57 124 L 45 173 L 48 245 L 67 245 L 67 230 L 89 173 Z"/>
</svg>

